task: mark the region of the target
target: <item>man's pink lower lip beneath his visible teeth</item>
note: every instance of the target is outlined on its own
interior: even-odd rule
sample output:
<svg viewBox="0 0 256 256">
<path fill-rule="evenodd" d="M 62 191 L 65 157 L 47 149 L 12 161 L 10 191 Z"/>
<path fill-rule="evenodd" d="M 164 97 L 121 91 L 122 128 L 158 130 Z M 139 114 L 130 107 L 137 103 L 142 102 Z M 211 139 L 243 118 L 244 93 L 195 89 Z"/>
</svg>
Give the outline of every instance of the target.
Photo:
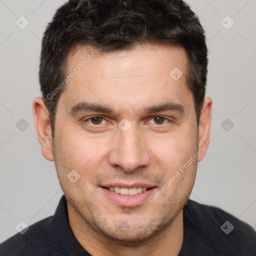
<svg viewBox="0 0 256 256">
<path fill-rule="evenodd" d="M 114 203 L 123 206 L 123 207 L 133 207 L 143 203 L 148 197 L 156 190 L 156 187 L 153 187 L 149 190 L 141 192 L 135 195 L 122 195 L 114 191 L 110 191 L 106 188 L 100 186 L 102 192 L 106 195 L 108 199 Z"/>
</svg>

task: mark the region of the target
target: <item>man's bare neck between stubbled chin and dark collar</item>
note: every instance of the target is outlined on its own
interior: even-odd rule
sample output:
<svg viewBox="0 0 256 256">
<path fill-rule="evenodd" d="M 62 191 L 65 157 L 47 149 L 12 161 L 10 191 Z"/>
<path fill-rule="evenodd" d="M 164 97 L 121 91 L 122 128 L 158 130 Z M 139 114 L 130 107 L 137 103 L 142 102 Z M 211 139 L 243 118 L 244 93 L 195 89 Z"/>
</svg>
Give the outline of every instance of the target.
<svg viewBox="0 0 256 256">
<path fill-rule="evenodd" d="M 103 237 L 92 229 L 82 217 L 67 203 L 71 230 L 81 246 L 95 256 L 147 256 L 178 255 L 183 242 L 183 211 L 178 212 L 169 226 L 142 242 L 138 246 L 124 246 Z"/>
</svg>

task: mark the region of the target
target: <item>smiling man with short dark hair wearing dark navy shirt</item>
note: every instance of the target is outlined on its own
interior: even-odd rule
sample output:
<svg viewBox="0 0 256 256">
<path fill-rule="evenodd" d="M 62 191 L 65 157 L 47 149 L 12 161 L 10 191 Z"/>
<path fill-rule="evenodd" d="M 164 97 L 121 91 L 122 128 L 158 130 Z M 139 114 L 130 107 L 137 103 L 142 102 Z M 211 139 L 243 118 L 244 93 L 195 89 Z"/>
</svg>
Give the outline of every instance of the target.
<svg viewBox="0 0 256 256">
<path fill-rule="evenodd" d="M 207 48 L 181 0 L 69 0 L 33 101 L 64 195 L 0 255 L 256 255 L 256 233 L 189 200 L 209 143 Z"/>
</svg>

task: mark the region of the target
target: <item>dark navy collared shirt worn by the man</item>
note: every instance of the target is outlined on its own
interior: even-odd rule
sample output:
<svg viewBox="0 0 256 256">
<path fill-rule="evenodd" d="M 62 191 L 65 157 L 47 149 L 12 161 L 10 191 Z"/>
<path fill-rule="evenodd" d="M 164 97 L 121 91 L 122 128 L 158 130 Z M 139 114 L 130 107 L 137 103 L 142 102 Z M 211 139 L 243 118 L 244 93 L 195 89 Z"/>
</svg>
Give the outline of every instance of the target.
<svg viewBox="0 0 256 256">
<path fill-rule="evenodd" d="M 256 232 L 252 227 L 217 207 L 188 200 L 183 208 L 183 225 L 179 256 L 256 255 Z M 97 254 L 100 255 L 100 251 Z M 0 256 L 51 255 L 90 255 L 70 229 L 64 195 L 53 216 L 30 225 L 24 234 L 17 233 L 0 244 Z"/>
</svg>

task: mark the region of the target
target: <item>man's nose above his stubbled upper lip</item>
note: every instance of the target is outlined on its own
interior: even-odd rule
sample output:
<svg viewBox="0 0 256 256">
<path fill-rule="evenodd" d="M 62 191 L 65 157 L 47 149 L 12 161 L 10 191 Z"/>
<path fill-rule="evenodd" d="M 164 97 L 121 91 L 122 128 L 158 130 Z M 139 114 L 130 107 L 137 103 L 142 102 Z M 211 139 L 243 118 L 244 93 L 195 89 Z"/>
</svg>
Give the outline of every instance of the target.
<svg viewBox="0 0 256 256">
<path fill-rule="evenodd" d="M 137 132 L 136 125 L 132 125 L 126 131 L 117 130 L 108 159 L 110 165 L 121 167 L 127 172 L 149 165 L 149 149 L 143 141 L 142 134 Z"/>
</svg>

